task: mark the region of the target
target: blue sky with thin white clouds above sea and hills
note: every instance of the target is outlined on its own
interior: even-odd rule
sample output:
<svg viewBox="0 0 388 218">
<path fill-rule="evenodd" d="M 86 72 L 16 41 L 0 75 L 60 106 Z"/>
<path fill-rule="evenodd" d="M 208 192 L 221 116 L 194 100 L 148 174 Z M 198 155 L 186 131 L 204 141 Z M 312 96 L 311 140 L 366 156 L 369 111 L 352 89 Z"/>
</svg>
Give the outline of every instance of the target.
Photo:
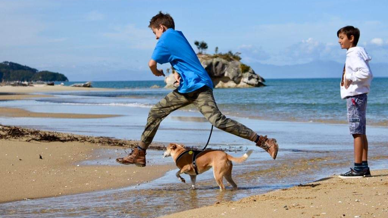
<svg viewBox="0 0 388 218">
<path fill-rule="evenodd" d="M 384 0 L 1 0 L 0 62 L 72 81 L 160 79 L 147 66 L 156 44 L 147 26 L 159 10 L 193 46 L 204 40 L 208 53 L 241 52 L 246 64 L 344 62 L 336 31 L 346 25 L 360 28 L 359 46 L 373 62 L 388 63 Z"/>
</svg>

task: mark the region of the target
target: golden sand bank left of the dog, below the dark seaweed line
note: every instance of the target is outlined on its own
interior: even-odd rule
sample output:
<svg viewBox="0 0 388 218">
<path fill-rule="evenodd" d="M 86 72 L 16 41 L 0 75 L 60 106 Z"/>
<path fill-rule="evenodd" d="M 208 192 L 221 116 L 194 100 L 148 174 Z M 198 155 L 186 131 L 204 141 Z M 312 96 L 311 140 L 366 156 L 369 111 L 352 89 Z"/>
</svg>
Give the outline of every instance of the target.
<svg viewBox="0 0 388 218">
<path fill-rule="evenodd" d="M 127 187 L 154 180 L 175 168 L 174 165 L 77 166 L 79 161 L 93 159 L 98 149 L 123 147 L 0 139 L 0 202 Z"/>
</svg>

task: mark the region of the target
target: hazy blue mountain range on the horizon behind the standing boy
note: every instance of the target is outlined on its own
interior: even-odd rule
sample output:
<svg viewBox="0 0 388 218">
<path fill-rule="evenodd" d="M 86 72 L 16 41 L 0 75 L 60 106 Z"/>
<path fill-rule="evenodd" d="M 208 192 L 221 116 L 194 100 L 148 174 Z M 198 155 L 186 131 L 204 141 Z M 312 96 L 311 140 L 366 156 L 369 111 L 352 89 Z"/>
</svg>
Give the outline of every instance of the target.
<svg viewBox="0 0 388 218">
<path fill-rule="evenodd" d="M 374 77 L 387 77 L 388 64 L 370 62 Z M 343 64 L 335 61 L 312 61 L 307 64 L 277 66 L 250 63 L 253 70 L 268 78 L 341 78 Z"/>
</svg>

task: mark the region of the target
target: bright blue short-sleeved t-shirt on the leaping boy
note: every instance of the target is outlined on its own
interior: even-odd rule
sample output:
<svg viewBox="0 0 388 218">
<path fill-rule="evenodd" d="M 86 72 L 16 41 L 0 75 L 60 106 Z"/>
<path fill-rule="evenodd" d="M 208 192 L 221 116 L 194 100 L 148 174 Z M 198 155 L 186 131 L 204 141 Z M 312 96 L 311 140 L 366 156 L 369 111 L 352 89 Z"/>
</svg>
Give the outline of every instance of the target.
<svg viewBox="0 0 388 218">
<path fill-rule="evenodd" d="M 152 60 L 159 64 L 170 62 L 180 75 L 178 92 L 193 92 L 204 85 L 213 88 L 209 74 L 181 31 L 167 29 L 156 44 Z"/>
</svg>

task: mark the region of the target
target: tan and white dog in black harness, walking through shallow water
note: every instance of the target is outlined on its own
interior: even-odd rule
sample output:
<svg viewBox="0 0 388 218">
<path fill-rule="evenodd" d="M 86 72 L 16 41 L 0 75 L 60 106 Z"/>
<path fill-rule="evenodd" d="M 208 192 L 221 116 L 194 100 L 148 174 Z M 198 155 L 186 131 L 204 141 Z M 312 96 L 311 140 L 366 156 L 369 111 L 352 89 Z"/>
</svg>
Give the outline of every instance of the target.
<svg viewBox="0 0 388 218">
<path fill-rule="evenodd" d="M 192 189 L 196 189 L 196 172 L 192 163 L 192 155 L 185 154 L 182 156 L 178 163 L 176 163 L 177 158 L 180 154 L 185 152 L 186 149 L 183 145 L 178 144 L 169 144 L 167 146 L 167 150 L 163 153 L 164 157 L 172 156 L 175 164 L 177 164 L 180 169 L 175 175 L 181 182 L 186 182 L 180 174 L 186 173 L 190 175 L 191 178 L 191 187 Z M 236 183 L 232 180 L 232 161 L 236 163 L 242 163 L 248 159 L 249 155 L 251 155 L 253 150 L 249 150 L 241 157 L 232 157 L 229 154 L 219 151 L 219 150 L 206 150 L 197 156 L 196 165 L 198 174 L 201 174 L 205 171 L 210 170 L 213 167 L 214 179 L 216 180 L 220 190 L 225 190 L 225 186 L 223 185 L 223 178 L 225 178 L 230 185 L 233 186 L 233 189 L 237 189 Z"/>
</svg>

